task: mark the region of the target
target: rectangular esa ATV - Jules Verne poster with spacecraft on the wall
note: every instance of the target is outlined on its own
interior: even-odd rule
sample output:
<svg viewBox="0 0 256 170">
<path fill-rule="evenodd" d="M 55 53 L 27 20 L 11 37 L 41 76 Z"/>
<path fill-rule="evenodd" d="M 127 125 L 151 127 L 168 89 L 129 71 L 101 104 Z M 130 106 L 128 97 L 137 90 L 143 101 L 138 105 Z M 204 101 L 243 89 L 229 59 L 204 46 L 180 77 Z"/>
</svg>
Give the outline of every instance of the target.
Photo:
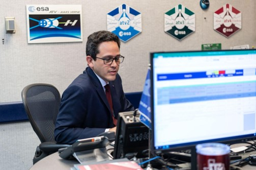
<svg viewBox="0 0 256 170">
<path fill-rule="evenodd" d="M 81 5 L 26 5 L 27 42 L 82 42 Z"/>
</svg>

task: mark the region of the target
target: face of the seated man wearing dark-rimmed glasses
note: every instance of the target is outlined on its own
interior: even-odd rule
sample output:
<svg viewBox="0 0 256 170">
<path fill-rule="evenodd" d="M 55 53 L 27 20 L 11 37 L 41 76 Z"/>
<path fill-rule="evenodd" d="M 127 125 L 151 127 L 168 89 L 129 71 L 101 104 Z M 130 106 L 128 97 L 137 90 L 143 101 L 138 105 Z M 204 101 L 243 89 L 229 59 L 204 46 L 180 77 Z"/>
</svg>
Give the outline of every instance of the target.
<svg viewBox="0 0 256 170">
<path fill-rule="evenodd" d="M 116 80 L 119 65 L 115 60 L 111 64 L 104 64 L 104 61 L 99 58 L 115 58 L 118 55 L 120 55 L 120 51 L 116 42 L 103 42 L 99 45 L 99 53 L 96 55 L 98 57 L 96 61 L 91 56 L 87 56 L 87 62 L 94 72 L 107 83 Z"/>
</svg>

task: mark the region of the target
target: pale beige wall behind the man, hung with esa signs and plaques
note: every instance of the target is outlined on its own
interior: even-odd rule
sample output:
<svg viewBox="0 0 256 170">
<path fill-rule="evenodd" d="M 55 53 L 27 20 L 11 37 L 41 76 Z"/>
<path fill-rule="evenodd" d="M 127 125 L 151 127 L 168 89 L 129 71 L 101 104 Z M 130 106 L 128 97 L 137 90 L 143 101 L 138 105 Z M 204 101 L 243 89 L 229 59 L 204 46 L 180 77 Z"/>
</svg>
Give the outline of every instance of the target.
<svg viewBox="0 0 256 170">
<path fill-rule="evenodd" d="M 87 66 L 87 37 L 94 31 L 106 30 L 106 14 L 123 3 L 141 12 L 143 21 L 143 31 L 121 44 L 125 61 L 119 73 L 125 92 L 143 90 L 150 52 L 201 50 L 201 45 L 208 43 L 221 43 L 222 49 L 256 45 L 254 0 L 210 1 L 206 11 L 200 8 L 199 1 L 194 0 L 4 1 L 0 6 L 0 40 L 4 39 L 4 44 L 0 44 L 0 103 L 21 101 L 21 90 L 31 83 L 53 84 L 62 93 Z M 226 3 L 242 12 L 242 29 L 230 38 L 213 30 L 213 12 Z M 30 4 L 81 4 L 83 42 L 27 44 L 25 5 Z M 178 4 L 194 12 L 196 20 L 195 32 L 182 41 L 163 31 L 164 13 Z M 16 33 L 6 34 L 5 16 L 15 17 Z M 32 166 L 39 140 L 29 122 L 0 124 L 0 136 L 0 169 L 28 169 Z"/>
</svg>

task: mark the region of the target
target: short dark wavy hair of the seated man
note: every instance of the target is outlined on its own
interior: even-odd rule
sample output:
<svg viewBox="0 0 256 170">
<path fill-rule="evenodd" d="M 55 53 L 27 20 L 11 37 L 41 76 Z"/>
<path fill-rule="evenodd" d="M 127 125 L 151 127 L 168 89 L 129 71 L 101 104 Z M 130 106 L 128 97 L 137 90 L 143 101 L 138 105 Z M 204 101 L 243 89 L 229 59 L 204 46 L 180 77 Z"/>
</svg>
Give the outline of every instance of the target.
<svg viewBox="0 0 256 170">
<path fill-rule="evenodd" d="M 101 30 L 92 33 L 86 43 L 86 55 L 90 55 L 94 60 L 96 60 L 96 55 L 99 53 L 99 45 L 103 42 L 114 41 L 117 42 L 118 48 L 120 49 L 120 39 L 115 33 Z"/>
</svg>

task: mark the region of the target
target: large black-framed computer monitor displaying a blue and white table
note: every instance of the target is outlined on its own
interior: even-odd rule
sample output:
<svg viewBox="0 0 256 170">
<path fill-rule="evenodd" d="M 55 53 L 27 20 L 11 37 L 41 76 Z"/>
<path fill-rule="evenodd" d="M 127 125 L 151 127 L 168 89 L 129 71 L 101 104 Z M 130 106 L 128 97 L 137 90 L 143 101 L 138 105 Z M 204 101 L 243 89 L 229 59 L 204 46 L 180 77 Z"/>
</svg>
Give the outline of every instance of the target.
<svg viewBox="0 0 256 170">
<path fill-rule="evenodd" d="M 152 149 L 256 139 L 256 50 L 151 53 Z"/>
</svg>

